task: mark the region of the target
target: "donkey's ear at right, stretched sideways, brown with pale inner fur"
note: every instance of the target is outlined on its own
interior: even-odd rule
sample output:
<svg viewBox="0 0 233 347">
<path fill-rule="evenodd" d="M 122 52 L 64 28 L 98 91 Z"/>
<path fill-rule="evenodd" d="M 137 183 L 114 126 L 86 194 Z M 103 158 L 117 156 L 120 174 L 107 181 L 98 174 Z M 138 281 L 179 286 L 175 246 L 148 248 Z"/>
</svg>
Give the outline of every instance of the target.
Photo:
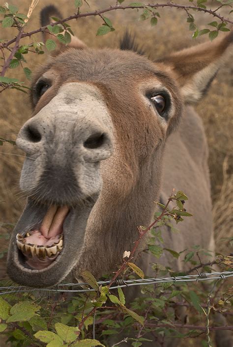
<svg viewBox="0 0 233 347">
<path fill-rule="evenodd" d="M 233 53 L 233 31 L 223 39 L 205 42 L 161 59 L 175 72 L 186 103 L 201 99 L 219 68 Z"/>
</svg>

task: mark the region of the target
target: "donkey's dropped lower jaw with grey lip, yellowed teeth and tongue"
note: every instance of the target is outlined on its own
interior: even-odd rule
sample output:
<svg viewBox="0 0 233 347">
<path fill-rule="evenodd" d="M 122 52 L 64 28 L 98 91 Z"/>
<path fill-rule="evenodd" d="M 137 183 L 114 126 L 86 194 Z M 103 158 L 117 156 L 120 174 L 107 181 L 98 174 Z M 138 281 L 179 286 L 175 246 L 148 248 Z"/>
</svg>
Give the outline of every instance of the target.
<svg viewBox="0 0 233 347">
<path fill-rule="evenodd" d="M 54 214 L 48 206 L 35 204 L 28 199 L 10 240 L 7 259 L 10 278 L 21 285 L 35 288 L 51 287 L 62 281 L 81 256 L 87 219 L 97 198 L 96 195 L 72 209 L 58 207 L 54 209 Z"/>
</svg>

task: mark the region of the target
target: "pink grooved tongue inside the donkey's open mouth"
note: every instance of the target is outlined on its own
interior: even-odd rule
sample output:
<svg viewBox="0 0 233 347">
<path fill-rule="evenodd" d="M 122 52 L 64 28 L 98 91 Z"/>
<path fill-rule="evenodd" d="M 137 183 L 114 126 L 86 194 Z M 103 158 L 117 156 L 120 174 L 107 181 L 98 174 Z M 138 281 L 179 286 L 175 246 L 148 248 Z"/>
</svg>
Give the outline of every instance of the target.
<svg viewBox="0 0 233 347">
<path fill-rule="evenodd" d="M 68 212 L 69 208 L 67 206 L 58 207 L 52 205 L 42 221 L 40 227 L 41 234 L 47 239 L 51 239 L 56 235 L 61 234 L 62 224 Z"/>
</svg>

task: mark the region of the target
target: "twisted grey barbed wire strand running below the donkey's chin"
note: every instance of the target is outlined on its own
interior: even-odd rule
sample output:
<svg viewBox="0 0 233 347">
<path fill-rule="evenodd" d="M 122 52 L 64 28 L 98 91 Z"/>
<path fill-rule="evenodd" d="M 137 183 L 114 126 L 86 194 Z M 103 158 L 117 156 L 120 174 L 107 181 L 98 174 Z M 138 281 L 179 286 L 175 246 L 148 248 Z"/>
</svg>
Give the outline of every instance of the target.
<svg viewBox="0 0 233 347">
<path fill-rule="evenodd" d="M 213 281 L 213 280 L 225 280 L 229 277 L 233 277 L 233 271 L 222 271 L 222 272 L 199 272 L 197 275 L 186 275 L 186 276 L 173 276 L 173 277 L 159 277 L 159 278 L 139 278 L 131 280 L 118 279 L 114 283 L 116 285 L 111 286 L 110 289 L 117 289 L 123 287 L 131 286 L 143 286 L 149 284 L 157 283 L 177 283 L 177 282 L 200 282 L 200 281 Z M 108 281 L 98 281 L 99 286 L 108 285 L 111 280 Z M 12 293 L 27 293 L 27 292 L 57 292 L 57 293 L 85 293 L 85 292 L 95 292 L 92 288 L 83 289 L 65 289 L 67 287 L 87 287 L 88 283 L 60 283 L 56 287 L 52 288 L 29 288 L 24 286 L 9 286 L 0 287 L 0 295 L 12 294 Z M 62 287 L 62 288 L 61 288 Z M 3 292 L 1 292 L 3 291 Z"/>
</svg>

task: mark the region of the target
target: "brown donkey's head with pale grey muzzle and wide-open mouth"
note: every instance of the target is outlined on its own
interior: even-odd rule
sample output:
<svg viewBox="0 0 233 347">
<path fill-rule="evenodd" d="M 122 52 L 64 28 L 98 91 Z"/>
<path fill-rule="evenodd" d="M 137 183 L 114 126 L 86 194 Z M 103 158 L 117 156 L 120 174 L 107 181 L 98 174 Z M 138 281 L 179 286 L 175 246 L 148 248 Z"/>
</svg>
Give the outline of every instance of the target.
<svg viewBox="0 0 233 347">
<path fill-rule="evenodd" d="M 43 11 L 54 14 L 53 7 Z M 230 34 L 158 62 L 89 49 L 74 37 L 65 49 L 58 45 L 34 76 L 32 117 L 17 138 L 28 202 L 10 241 L 13 280 L 48 287 L 121 262 L 137 225 L 152 217 L 167 136 L 185 103 L 205 92 L 232 41 Z"/>
</svg>

